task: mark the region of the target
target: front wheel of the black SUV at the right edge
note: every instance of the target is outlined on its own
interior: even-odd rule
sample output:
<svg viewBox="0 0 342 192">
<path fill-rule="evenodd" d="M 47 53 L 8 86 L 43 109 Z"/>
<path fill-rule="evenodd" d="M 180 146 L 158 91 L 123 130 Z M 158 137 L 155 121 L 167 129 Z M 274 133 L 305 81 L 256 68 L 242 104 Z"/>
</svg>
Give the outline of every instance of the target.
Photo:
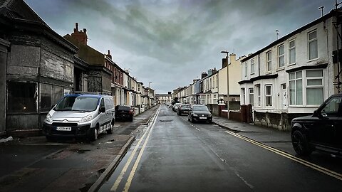
<svg viewBox="0 0 342 192">
<path fill-rule="evenodd" d="M 311 154 L 312 150 L 310 149 L 309 143 L 306 140 L 305 135 L 299 130 L 296 130 L 292 133 L 291 140 L 296 154 L 301 156 L 309 156 L 309 154 Z"/>
</svg>

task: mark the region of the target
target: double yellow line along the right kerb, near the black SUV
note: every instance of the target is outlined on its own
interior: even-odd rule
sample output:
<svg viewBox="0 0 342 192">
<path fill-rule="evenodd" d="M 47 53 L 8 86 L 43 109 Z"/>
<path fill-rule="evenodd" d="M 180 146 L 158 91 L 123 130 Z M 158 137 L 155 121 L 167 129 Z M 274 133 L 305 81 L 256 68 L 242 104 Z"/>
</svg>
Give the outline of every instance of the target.
<svg viewBox="0 0 342 192">
<path fill-rule="evenodd" d="M 284 151 L 280 151 L 279 149 L 274 149 L 274 148 L 272 148 L 271 146 L 267 146 L 267 145 L 265 145 L 265 144 L 261 144 L 260 142 L 256 142 L 256 141 L 254 141 L 254 140 L 252 140 L 252 139 L 249 139 L 249 138 L 244 137 L 244 136 L 242 136 L 242 135 L 236 134 L 236 133 L 234 133 L 234 132 L 229 132 L 229 131 L 226 131 L 226 132 L 227 132 L 228 134 L 231 134 L 231 135 L 234 136 L 234 137 L 238 137 L 239 139 L 243 139 L 243 140 L 246 141 L 246 142 L 249 142 L 249 143 L 251 143 L 251 144 L 255 144 L 255 145 L 257 145 L 257 146 L 260 146 L 260 147 L 262 147 L 262 148 L 264 148 L 264 149 L 267 149 L 267 150 L 269 150 L 269 151 L 274 152 L 275 154 L 279 154 L 279 155 L 281 155 L 281 156 L 284 156 L 284 157 L 286 157 L 286 158 L 288 158 L 288 159 L 291 159 L 292 161 L 296 161 L 296 162 L 299 163 L 299 164 L 303 164 L 304 166 L 308 166 L 308 167 L 310 167 L 311 169 L 315 169 L 316 171 L 320 171 L 320 172 L 323 173 L 323 174 L 327 174 L 328 176 L 332 176 L 332 177 L 337 178 L 338 180 L 341 180 L 341 181 L 342 181 L 342 174 L 338 174 L 338 173 L 336 173 L 335 171 L 331 171 L 331 170 L 326 169 L 326 168 L 324 168 L 324 167 L 321 167 L 321 166 L 318 166 L 318 165 L 316 165 L 316 164 L 313 164 L 313 163 L 311 163 L 311 162 L 309 162 L 309 161 L 305 161 L 305 160 L 303 160 L 303 159 L 299 159 L 298 157 L 293 156 L 293 155 L 291 155 L 291 154 L 288 154 L 288 153 L 286 153 L 286 152 L 284 152 Z"/>
</svg>

